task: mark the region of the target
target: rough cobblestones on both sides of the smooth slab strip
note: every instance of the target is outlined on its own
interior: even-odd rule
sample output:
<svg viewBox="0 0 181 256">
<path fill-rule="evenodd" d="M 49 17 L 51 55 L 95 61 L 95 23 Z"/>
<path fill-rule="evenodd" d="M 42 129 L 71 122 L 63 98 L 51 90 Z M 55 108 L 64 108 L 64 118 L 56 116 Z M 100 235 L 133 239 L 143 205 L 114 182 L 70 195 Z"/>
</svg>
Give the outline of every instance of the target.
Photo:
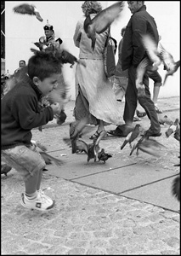
<svg viewBox="0 0 181 256">
<path fill-rule="evenodd" d="M 162 99 L 161 99 L 162 100 Z M 178 101 L 178 97 L 174 102 Z M 171 100 L 162 100 L 168 109 Z M 167 102 L 167 104 L 166 104 Z M 73 102 L 70 103 L 71 107 Z M 68 135 L 72 108 L 65 108 L 67 123 L 56 126 L 54 122 L 43 128 L 42 133 L 33 130 L 33 139 L 45 144 L 48 150 L 65 148 L 62 133 Z M 163 109 L 164 110 L 164 109 Z M 174 119 L 178 111 L 169 112 Z M 144 125 L 148 119 L 144 119 Z M 52 127 L 51 127 L 52 125 Z M 114 127 L 114 126 L 113 126 Z M 167 127 L 161 127 L 164 133 Z M 123 138 L 105 140 L 113 154 L 120 154 Z M 179 143 L 173 137 L 158 141 L 169 148 L 164 160 L 150 156 L 147 164 L 156 168 L 175 170 L 178 162 Z M 127 159 L 125 147 L 122 158 Z M 142 162 L 143 154 L 133 155 Z M 130 160 L 130 158 L 129 158 Z M 84 166 L 85 168 L 85 166 Z M 24 183 L 13 169 L 2 176 L 2 255 L 179 255 L 180 214 L 161 207 L 114 195 L 85 185 L 72 183 L 47 172 L 42 175 L 42 189 L 56 200 L 49 212 L 30 211 L 20 206 L 20 193 Z M 48 189 L 50 188 L 50 189 Z"/>
</svg>

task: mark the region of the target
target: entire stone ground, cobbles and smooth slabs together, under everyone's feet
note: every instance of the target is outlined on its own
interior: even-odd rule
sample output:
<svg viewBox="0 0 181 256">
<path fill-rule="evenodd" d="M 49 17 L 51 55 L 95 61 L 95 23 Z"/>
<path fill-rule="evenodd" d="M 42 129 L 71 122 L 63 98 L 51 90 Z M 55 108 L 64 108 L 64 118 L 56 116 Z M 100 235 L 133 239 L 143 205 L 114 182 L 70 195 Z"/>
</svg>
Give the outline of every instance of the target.
<svg viewBox="0 0 181 256">
<path fill-rule="evenodd" d="M 124 138 L 108 137 L 100 146 L 113 157 L 87 164 L 85 154 L 71 154 L 62 141 L 74 120 L 74 103 L 65 106 L 64 125 L 54 119 L 42 132 L 32 131 L 34 140 L 64 161 L 47 166 L 42 176 L 42 189 L 56 200 L 55 207 L 46 213 L 21 207 L 20 176 L 14 169 L 2 175 L 2 255 L 180 254 L 180 204 L 171 194 L 179 143 L 165 137 L 168 125 L 161 125 L 156 138 L 166 146 L 159 158 L 143 152 L 129 156 L 128 145 L 120 150 Z M 123 111 L 124 103 L 117 104 Z M 179 97 L 161 98 L 159 107 L 173 121 L 179 118 Z M 148 129 L 150 121 L 144 117 L 140 124 Z M 90 134 L 83 137 L 86 142 Z"/>
</svg>

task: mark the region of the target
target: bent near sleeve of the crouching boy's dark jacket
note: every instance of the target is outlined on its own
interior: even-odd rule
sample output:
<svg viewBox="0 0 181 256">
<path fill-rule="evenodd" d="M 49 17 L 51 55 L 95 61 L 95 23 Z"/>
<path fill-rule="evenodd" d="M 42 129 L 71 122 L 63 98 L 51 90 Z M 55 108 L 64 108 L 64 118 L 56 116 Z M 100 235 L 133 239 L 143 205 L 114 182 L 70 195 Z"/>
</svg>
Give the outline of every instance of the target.
<svg viewBox="0 0 181 256">
<path fill-rule="evenodd" d="M 11 107 L 14 119 L 19 122 L 20 127 L 24 130 L 31 130 L 54 119 L 54 112 L 51 107 L 37 108 L 36 96 L 28 94 L 16 96 Z"/>
</svg>

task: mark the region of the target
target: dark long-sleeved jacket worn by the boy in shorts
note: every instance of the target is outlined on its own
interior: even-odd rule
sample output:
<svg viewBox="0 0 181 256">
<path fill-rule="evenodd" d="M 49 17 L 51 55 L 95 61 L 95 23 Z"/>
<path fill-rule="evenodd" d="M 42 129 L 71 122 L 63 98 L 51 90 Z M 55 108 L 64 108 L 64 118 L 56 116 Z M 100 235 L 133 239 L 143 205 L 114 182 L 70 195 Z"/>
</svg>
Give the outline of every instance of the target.
<svg viewBox="0 0 181 256">
<path fill-rule="evenodd" d="M 25 76 L 1 100 L 1 148 L 31 144 L 31 129 L 54 119 L 51 107 L 40 108 L 41 91 Z"/>
</svg>

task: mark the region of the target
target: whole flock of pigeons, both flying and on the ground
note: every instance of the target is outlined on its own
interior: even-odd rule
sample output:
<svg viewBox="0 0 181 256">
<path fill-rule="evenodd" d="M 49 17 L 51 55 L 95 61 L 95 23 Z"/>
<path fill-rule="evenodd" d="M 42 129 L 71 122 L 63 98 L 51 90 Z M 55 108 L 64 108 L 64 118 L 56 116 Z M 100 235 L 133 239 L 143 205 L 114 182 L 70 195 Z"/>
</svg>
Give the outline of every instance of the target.
<svg viewBox="0 0 181 256">
<path fill-rule="evenodd" d="M 84 21 L 84 30 L 88 35 L 88 38 L 92 40 L 92 48 L 94 49 L 94 45 L 96 42 L 96 33 L 104 32 L 111 23 L 116 20 L 124 7 L 124 1 L 117 1 L 116 3 L 110 5 L 110 7 L 99 12 L 98 15 L 91 20 L 90 16 Z M 14 13 L 19 13 L 22 15 L 35 15 L 37 20 L 42 22 L 42 17 L 34 5 L 30 4 L 20 4 L 19 6 L 14 7 Z M 150 35 L 143 35 L 143 45 L 144 49 L 147 51 L 149 55 L 149 59 L 144 59 L 138 69 L 137 69 L 137 79 L 136 85 L 139 91 L 139 96 L 143 96 L 144 94 L 144 84 L 143 77 L 147 68 L 151 68 L 152 70 L 156 70 L 161 63 L 166 68 L 166 77 L 164 79 L 164 83 L 166 83 L 166 79 L 168 76 L 173 75 L 178 70 L 180 66 L 180 61 L 175 62 L 173 60 L 173 55 L 167 52 L 166 49 L 159 43 L 159 47 L 156 46 L 154 40 L 150 37 Z M 39 47 L 40 45 L 38 45 Z M 39 47 L 40 48 L 40 47 Z M 51 49 L 48 49 L 51 50 Z M 64 51 L 65 63 L 71 63 L 73 65 L 75 62 L 78 62 L 75 56 L 71 55 L 69 52 Z M 150 67 L 150 61 L 153 62 L 153 65 Z M 166 122 L 167 116 L 164 117 L 165 120 L 162 122 Z M 71 147 L 71 153 L 76 154 L 80 152 L 84 152 L 88 155 L 87 161 L 93 159 L 94 161 L 103 161 L 105 163 L 112 154 L 105 153 L 105 148 L 100 148 L 99 142 L 105 137 L 106 132 L 102 131 L 99 134 L 99 137 L 93 139 L 93 143 L 86 143 L 82 140 L 82 135 L 88 132 L 88 127 L 86 124 L 88 123 L 87 119 L 82 119 L 80 121 L 75 121 L 70 124 L 70 137 L 64 137 L 63 141 Z M 164 145 L 158 143 L 156 140 L 145 137 L 141 135 L 140 131 L 141 126 L 135 125 L 132 131 L 130 131 L 122 143 L 121 149 L 123 149 L 127 143 L 131 148 L 130 155 L 133 154 L 133 151 L 136 150 L 136 154 L 139 154 L 139 150 L 144 153 L 151 154 L 154 156 L 159 156 L 159 149 L 165 148 Z M 87 131 L 86 131 L 87 130 Z M 172 122 L 169 125 L 169 128 L 166 131 L 166 137 L 170 137 L 173 134 L 173 137 L 180 142 L 180 125 L 178 119 L 175 122 Z M 36 142 L 33 142 L 35 143 Z M 133 146 L 132 146 L 133 144 Z M 61 160 L 57 160 L 48 153 L 46 153 L 47 148 L 43 148 L 42 145 L 37 144 L 37 148 L 40 148 L 39 153 L 42 154 L 46 164 L 51 164 L 54 162 L 56 165 L 61 166 L 63 162 Z M 179 166 L 175 165 L 175 166 Z M 1 169 L 1 173 L 7 175 L 7 173 L 11 170 L 11 167 L 4 164 Z M 46 169 L 44 170 L 46 171 Z M 174 179 L 173 182 L 173 195 L 175 195 L 180 201 L 180 174 L 178 177 Z"/>
</svg>

